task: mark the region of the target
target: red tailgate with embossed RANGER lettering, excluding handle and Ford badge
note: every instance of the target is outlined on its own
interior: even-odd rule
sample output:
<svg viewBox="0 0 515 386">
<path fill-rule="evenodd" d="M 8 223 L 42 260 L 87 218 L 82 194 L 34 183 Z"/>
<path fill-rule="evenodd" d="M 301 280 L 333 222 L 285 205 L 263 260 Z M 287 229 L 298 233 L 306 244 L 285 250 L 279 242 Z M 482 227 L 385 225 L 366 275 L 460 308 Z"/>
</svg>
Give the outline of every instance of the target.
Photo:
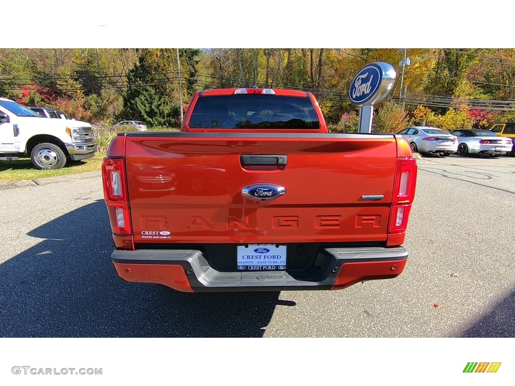
<svg viewBox="0 0 515 386">
<path fill-rule="evenodd" d="M 125 139 L 135 243 L 387 238 L 397 157 L 392 135 L 134 133 Z M 244 166 L 242 155 L 287 161 Z M 285 194 L 244 197 L 242 189 L 254 183 L 281 185 Z"/>
</svg>

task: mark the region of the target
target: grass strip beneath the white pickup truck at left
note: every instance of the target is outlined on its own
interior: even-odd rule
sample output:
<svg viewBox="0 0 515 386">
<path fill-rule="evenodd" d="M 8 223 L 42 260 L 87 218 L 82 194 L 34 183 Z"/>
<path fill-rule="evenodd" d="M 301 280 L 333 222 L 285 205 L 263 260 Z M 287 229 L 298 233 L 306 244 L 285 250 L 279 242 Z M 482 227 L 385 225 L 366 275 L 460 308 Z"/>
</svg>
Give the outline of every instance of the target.
<svg viewBox="0 0 515 386">
<path fill-rule="evenodd" d="M 62 169 L 38 170 L 30 159 L 0 161 L 0 182 L 34 180 L 45 177 L 65 176 L 66 174 L 101 170 L 105 153 L 96 153 L 93 158 L 84 161 L 67 161 Z"/>
</svg>

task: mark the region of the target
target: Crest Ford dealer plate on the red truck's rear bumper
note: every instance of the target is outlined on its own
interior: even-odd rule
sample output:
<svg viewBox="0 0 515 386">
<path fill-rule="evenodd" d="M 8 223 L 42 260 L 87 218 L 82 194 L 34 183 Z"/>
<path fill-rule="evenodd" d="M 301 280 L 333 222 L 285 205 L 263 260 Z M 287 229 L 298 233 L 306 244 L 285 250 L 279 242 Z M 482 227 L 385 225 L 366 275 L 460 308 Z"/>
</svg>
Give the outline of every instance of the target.
<svg viewBox="0 0 515 386">
<path fill-rule="evenodd" d="M 248 244 L 236 247 L 238 271 L 282 271 L 286 269 L 286 245 Z"/>
</svg>

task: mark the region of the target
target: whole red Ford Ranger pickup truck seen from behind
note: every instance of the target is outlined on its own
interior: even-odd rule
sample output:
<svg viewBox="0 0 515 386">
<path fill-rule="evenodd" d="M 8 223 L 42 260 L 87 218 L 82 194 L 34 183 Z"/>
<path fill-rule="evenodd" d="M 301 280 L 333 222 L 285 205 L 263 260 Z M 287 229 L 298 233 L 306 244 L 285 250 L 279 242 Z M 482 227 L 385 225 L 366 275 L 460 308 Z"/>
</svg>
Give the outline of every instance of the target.
<svg viewBox="0 0 515 386">
<path fill-rule="evenodd" d="M 198 92 L 180 132 L 123 133 L 102 167 L 127 282 L 340 289 L 402 273 L 417 178 L 399 135 L 332 134 L 310 92 Z"/>
</svg>

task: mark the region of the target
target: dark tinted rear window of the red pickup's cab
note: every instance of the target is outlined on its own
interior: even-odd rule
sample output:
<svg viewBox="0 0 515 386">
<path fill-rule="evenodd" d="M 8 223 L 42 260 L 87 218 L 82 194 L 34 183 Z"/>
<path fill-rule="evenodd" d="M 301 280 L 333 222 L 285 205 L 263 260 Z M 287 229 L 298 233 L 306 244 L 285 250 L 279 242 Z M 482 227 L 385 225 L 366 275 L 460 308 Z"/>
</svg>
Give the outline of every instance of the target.
<svg viewBox="0 0 515 386">
<path fill-rule="evenodd" d="M 310 98 L 279 95 L 199 97 L 192 129 L 319 129 Z"/>
</svg>

